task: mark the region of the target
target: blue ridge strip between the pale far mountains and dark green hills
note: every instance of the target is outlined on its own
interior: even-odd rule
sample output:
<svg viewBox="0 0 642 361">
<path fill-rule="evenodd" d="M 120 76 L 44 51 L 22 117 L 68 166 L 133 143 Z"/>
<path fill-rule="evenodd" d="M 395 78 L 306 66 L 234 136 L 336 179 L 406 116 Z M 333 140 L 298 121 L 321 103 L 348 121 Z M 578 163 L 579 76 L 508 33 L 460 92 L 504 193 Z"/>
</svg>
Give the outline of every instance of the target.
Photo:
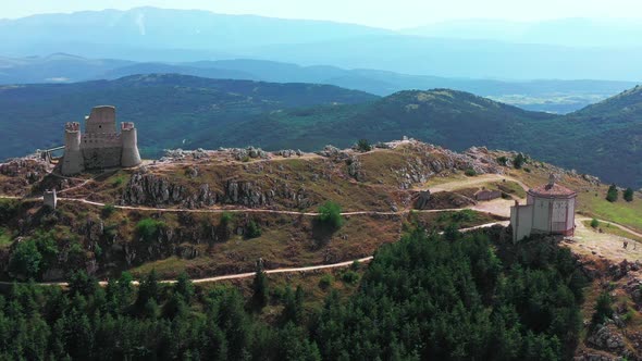
<svg viewBox="0 0 642 361">
<path fill-rule="evenodd" d="M 300 66 L 250 59 L 139 63 L 85 59 L 63 53 L 45 58 L 0 58 L 0 84 L 73 83 L 155 73 L 270 83 L 329 84 L 379 96 L 406 89 L 448 88 L 492 97 L 523 109 L 556 113 L 578 110 L 635 85 L 631 82 L 609 80 L 501 82 L 446 78 L 376 70 L 345 70 L 328 65 Z"/>
</svg>

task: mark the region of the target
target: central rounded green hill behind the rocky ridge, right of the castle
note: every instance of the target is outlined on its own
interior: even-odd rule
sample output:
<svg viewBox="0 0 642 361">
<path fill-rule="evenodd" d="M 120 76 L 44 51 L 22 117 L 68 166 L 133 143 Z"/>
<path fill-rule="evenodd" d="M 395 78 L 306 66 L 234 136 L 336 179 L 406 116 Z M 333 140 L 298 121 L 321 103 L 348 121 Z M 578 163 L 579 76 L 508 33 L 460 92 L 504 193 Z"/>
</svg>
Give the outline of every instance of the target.
<svg viewBox="0 0 642 361">
<path fill-rule="evenodd" d="M 341 147 L 357 139 L 399 139 L 410 136 L 465 149 L 472 145 L 505 144 L 524 125 L 554 119 L 498 103 L 468 92 L 435 89 L 402 91 L 360 105 L 318 107 L 262 114 L 226 129 L 202 134 L 193 146 L 225 140 L 232 146 L 248 142 L 268 149 L 313 150 L 326 144 Z"/>
</svg>

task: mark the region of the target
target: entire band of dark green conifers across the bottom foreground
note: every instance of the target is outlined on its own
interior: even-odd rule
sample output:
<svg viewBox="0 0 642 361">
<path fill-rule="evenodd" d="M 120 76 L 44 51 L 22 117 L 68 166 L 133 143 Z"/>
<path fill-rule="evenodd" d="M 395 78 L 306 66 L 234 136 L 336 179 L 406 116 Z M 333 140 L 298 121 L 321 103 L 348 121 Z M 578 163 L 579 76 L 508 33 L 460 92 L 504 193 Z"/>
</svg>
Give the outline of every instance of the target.
<svg viewBox="0 0 642 361">
<path fill-rule="evenodd" d="M 345 273 L 358 279 L 358 267 Z M 247 298 L 185 275 L 132 282 L 100 287 L 76 272 L 67 290 L 14 284 L 0 296 L 0 359 L 558 360 L 577 340 L 583 286 L 555 245 L 496 251 L 482 234 L 422 229 L 381 248 L 356 294 L 330 290 L 319 310 L 260 267 Z M 280 315 L 264 321 L 266 306 Z"/>
</svg>

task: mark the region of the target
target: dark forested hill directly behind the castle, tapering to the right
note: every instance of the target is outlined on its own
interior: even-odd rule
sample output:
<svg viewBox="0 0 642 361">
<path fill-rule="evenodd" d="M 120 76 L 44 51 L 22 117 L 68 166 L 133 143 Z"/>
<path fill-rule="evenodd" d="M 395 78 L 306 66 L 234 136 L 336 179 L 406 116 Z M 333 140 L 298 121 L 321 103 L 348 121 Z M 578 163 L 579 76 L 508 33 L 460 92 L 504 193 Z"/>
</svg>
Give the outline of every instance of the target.
<svg viewBox="0 0 642 361">
<path fill-rule="evenodd" d="M 0 86 L 2 158 L 61 145 L 65 122 L 92 107 L 114 104 L 118 121 L 139 129 L 144 155 L 182 147 L 202 130 L 215 132 L 254 114 L 313 104 L 360 103 L 375 96 L 334 86 L 221 80 L 185 75 L 134 75 L 116 80 Z M 218 145 L 217 145 L 218 146 Z"/>
</svg>

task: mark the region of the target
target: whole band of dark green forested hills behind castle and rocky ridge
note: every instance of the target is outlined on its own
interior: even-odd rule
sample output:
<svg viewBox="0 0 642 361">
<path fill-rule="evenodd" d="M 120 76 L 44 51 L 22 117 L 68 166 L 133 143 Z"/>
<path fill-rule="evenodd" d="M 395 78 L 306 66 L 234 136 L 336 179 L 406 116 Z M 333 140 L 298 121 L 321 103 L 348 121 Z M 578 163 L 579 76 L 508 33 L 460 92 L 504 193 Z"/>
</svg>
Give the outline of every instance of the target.
<svg viewBox="0 0 642 361">
<path fill-rule="evenodd" d="M 314 150 L 413 137 L 462 150 L 519 150 L 606 182 L 642 187 L 642 88 L 566 116 L 434 89 L 385 98 L 333 86 L 135 75 L 111 82 L 0 87 L 5 157 L 60 145 L 62 124 L 115 104 L 145 157 L 164 148 Z M 37 124 L 37 126 L 34 126 Z"/>
</svg>

